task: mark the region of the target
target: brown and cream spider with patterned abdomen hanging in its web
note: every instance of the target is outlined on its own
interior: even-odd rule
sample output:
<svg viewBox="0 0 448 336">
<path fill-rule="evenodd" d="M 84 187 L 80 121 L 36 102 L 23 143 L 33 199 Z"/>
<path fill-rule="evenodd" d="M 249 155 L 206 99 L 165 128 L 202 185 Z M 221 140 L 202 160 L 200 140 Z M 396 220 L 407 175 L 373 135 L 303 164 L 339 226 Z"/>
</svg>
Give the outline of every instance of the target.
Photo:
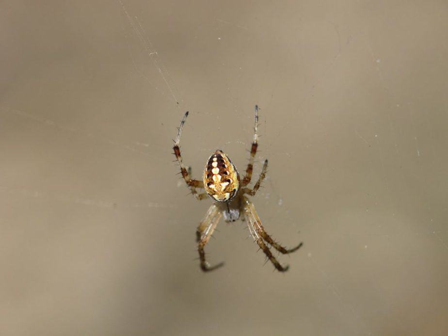
<svg viewBox="0 0 448 336">
<path fill-rule="evenodd" d="M 247 219 L 247 225 L 249 226 L 251 236 L 256 241 L 260 249 L 262 249 L 266 254 L 267 259 L 271 260 L 272 264 L 278 271 L 287 271 L 289 266 L 282 266 L 277 261 L 277 259 L 272 255 L 269 245 L 282 254 L 288 254 L 297 251 L 303 243 L 300 243 L 292 249 L 286 249 L 273 240 L 261 224 L 261 220 L 256 213 L 255 206 L 246 196 L 254 196 L 256 194 L 257 190 L 260 188 L 261 182 L 266 176 L 266 169 L 268 168 L 268 160 L 265 160 L 254 188 L 250 189 L 247 187 L 252 178 L 254 159 L 256 149 L 258 147 L 258 136 L 256 133 L 258 126 L 258 106 L 255 106 L 254 141 L 251 147 L 246 174 L 244 175 L 242 181 L 240 180 L 240 175 L 238 174 L 235 165 L 232 163 L 227 154 L 220 149 L 216 150 L 208 158 L 202 181 L 195 180 L 190 177 L 190 169 L 187 170 L 185 168 L 179 149 L 180 134 L 182 133 L 182 128 L 185 124 L 187 116 L 188 112 L 185 112 L 185 115 L 180 122 L 180 127 L 178 128 L 175 145 L 173 146 L 174 155 L 176 155 L 176 160 L 179 163 L 180 174 L 182 174 L 182 177 L 187 183 L 187 186 L 190 188 L 192 195 L 197 200 L 203 200 L 209 196 L 214 201 L 196 230 L 196 242 L 198 243 L 198 252 L 202 271 L 213 271 L 224 265 L 222 262 L 217 265 L 210 266 L 206 261 L 204 252 L 204 247 L 210 239 L 219 220 L 223 216 L 225 222 L 235 222 L 240 217 L 243 221 Z M 198 193 L 196 190 L 198 188 L 203 188 L 206 192 Z"/>
</svg>

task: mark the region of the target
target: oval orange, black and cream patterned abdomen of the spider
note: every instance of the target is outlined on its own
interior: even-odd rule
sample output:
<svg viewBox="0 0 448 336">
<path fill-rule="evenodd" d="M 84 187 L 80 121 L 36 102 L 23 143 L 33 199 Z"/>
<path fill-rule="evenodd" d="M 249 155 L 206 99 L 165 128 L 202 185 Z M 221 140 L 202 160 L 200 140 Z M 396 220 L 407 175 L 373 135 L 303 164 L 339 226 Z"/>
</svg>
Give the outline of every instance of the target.
<svg viewBox="0 0 448 336">
<path fill-rule="evenodd" d="M 219 202 L 230 201 L 240 188 L 237 168 L 221 150 L 208 158 L 204 170 L 204 188 L 212 199 Z"/>
</svg>

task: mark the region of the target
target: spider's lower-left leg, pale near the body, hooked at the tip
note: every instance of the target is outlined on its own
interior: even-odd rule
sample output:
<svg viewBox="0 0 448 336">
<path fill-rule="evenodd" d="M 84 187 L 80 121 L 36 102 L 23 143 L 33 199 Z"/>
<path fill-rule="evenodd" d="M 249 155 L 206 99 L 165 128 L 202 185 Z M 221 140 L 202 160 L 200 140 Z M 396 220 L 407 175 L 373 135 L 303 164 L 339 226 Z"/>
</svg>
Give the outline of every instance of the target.
<svg viewBox="0 0 448 336">
<path fill-rule="evenodd" d="M 219 205 L 212 204 L 211 207 L 208 208 L 207 214 L 196 230 L 196 240 L 198 241 L 198 252 L 199 259 L 201 260 L 201 270 L 204 272 L 216 270 L 217 268 L 224 265 L 224 262 L 221 262 L 217 265 L 210 266 L 206 261 L 204 251 L 204 247 L 213 234 L 213 231 L 215 230 L 215 227 L 221 219 L 222 215 L 223 213 Z"/>
</svg>

